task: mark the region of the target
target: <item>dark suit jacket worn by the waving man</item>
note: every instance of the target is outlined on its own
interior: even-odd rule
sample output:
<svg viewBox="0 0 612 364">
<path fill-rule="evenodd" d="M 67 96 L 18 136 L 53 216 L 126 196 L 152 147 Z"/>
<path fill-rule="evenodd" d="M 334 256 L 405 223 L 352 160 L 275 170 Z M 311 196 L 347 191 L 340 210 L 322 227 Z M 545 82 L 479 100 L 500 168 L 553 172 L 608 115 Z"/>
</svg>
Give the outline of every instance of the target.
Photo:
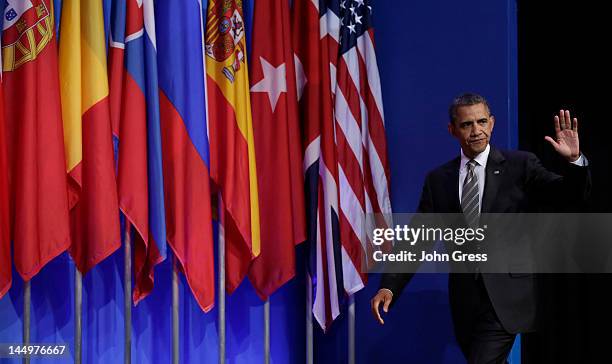
<svg viewBox="0 0 612 364">
<path fill-rule="evenodd" d="M 462 212 L 458 191 L 460 161 L 461 158 L 457 157 L 427 175 L 418 212 Z M 584 200 L 590 191 L 588 167 L 568 163 L 561 176 L 545 169 L 538 158 L 528 152 L 491 147 L 485 173 L 481 213 L 533 212 L 538 205 L 560 200 L 561 195 L 564 203 L 568 202 L 568 195 L 571 201 Z M 381 288 L 390 289 L 395 301 L 412 276 L 409 273 L 384 274 Z M 473 281 L 474 275 L 451 273 L 449 276 L 453 316 L 460 315 L 461 307 L 468 306 L 464 304 L 468 297 L 462 289 L 468 279 Z M 483 273 L 482 279 L 493 308 L 508 332 L 535 330 L 537 295 L 533 274 Z"/>
</svg>

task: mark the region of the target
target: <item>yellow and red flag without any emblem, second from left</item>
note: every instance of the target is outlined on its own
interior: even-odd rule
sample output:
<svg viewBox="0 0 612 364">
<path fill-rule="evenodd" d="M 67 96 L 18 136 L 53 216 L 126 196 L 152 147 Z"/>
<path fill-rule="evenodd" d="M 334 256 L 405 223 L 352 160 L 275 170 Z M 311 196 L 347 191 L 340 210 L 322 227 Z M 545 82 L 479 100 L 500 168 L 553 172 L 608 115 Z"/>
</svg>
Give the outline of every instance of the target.
<svg viewBox="0 0 612 364">
<path fill-rule="evenodd" d="M 121 244 L 102 0 L 64 0 L 60 34 L 70 253 L 86 273 Z"/>
</svg>

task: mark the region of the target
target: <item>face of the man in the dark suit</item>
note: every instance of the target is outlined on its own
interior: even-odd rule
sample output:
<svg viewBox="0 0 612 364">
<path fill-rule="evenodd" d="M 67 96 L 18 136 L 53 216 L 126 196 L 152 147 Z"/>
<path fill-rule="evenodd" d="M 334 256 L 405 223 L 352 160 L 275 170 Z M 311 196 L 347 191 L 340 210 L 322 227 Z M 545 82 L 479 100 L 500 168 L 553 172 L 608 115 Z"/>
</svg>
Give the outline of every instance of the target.
<svg viewBox="0 0 612 364">
<path fill-rule="evenodd" d="M 461 106 L 455 121 L 448 124 L 448 132 L 457 138 L 463 153 L 474 158 L 487 148 L 494 124 L 495 118 L 484 104 Z"/>
</svg>

